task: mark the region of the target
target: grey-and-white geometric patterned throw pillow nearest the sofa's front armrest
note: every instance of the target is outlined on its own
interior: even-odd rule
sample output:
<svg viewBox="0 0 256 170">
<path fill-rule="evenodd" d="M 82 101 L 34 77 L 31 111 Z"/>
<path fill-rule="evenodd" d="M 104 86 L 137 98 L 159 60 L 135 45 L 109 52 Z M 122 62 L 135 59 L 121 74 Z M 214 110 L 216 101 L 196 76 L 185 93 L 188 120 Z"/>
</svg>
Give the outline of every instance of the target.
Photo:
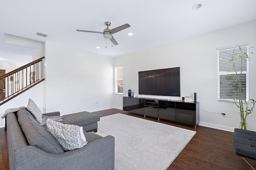
<svg viewBox="0 0 256 170">
<path fill-rule="evenodd" d="M 66 125 L 52 119 L 47 119 L 46 126 L 65 151 L 82 148 L 88 143 L 86 142 L 82 127 Z"/>
</svg>

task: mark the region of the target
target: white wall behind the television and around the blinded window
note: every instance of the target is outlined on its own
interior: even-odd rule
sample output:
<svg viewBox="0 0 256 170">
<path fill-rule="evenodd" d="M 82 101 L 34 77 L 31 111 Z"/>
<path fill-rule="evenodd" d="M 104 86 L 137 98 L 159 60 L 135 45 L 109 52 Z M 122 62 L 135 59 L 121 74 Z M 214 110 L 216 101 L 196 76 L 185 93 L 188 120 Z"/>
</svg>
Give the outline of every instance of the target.
<svg viewBox="0 0 256 170">
<path fill-rule="evenodd" d="M 138 71 L 180 67 L 181 96 L 197 93 L 200 125 L 232 131 L 239 127 L 238 108 L 232 102 L 217 101 L 217 47 L 248 42 L 256 46 L 256 22 L 240 24 L 173 43 L 115 57 L 114 65 L 123 65 L 124 96 L 128 89 L 138 96 Z M 255 53 L 255 48 L 252 50 Z M 256 99 L 255 55 L 249 62 L 249 98 Z M 126 93 L 127 92 L 127 93 Z M 181 100 L 181 97 L 170 97 Z M 114 107 L 122 107 L 122 95 L 114 95 Z M 226 113 L 222 117 L 221 113 Z M 250 130 L 256 130 L 255 111 L 248 116 Z"/>
</svg>

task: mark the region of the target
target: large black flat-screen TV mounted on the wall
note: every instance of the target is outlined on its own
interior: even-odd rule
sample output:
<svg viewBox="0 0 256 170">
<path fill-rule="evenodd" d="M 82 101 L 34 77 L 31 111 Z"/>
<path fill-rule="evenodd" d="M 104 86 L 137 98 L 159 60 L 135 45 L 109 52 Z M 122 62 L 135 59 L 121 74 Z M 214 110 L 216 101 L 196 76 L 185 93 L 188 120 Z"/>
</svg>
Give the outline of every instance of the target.
<svg viewBox="0 0 256 170">
<path fill-rule="evenodd" d="M 180 96 L 180 67 L 139 71 L 139 94 Z"/>
</svg>

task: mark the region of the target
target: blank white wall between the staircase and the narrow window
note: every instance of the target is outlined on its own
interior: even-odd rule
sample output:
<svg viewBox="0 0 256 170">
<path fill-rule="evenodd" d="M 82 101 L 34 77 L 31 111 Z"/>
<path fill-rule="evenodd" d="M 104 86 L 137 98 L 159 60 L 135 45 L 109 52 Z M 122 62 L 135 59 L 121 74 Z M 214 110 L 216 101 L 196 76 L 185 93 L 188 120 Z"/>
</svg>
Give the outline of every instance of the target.
<svg viewBox="0 0 256 170">
<path fill-rule="evenodd" d="M 46 42 L 46 112 L 112 108 L 113 62 L 113 57 Z"/>
</svg>

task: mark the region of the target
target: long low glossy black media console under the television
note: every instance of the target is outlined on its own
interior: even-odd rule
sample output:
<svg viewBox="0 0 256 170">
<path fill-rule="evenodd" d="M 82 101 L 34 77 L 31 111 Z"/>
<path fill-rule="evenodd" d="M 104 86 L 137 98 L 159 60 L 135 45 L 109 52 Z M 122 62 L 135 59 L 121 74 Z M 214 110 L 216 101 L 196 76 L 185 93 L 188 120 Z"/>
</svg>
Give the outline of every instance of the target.
<svg viewBox="0 0 256 170">
<path fill-rule="evenodd" d="M 142 97 L 123 97 L 123 111 L 169 121 L 196 125 L 199 123 L 199 102 L 182 102 Z"/>
</svg>

